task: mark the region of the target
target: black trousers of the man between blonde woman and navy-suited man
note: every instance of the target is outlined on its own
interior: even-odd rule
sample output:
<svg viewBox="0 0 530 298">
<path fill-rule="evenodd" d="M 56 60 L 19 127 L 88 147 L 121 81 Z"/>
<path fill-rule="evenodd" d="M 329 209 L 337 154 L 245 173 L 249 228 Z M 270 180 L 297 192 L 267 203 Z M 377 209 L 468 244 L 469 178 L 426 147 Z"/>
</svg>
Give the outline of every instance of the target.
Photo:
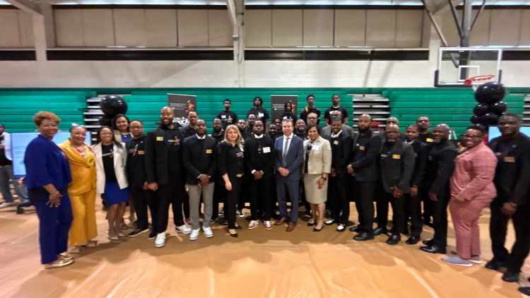
<svg viewBox="0 0 530 298">
<path fill-rule="evenodd" d="M 254 176 L 254 175 L 252 175 Z M 271 177 L 262 177 L 250 181 L 250 191 L 252 193 L 250 202 L 250 218 L 259 220 L 263 215 L 263 220 L 271 220 Z"/>
</svg>

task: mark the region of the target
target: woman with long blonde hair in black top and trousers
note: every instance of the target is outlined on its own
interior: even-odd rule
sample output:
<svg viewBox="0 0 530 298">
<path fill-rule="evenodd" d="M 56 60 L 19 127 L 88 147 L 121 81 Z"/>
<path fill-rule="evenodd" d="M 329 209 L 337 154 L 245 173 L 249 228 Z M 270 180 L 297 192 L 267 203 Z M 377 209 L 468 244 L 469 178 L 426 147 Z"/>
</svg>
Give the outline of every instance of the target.
<svg viewBox="0 0 530 298">
<path fill-rule="evenodd" d="M 245 150 L 240 130 L 235 125 L 226 127 L 225 139 L 219 143 L 218 169 L 225 182 L 224 209 L 225 218 L 228 220 L 228 233 L 232 237 L 237 237 L 236 230 L 240 230 L 241 227 L 237 225 L 235 214 L 245 173 Z"/>
</svg>

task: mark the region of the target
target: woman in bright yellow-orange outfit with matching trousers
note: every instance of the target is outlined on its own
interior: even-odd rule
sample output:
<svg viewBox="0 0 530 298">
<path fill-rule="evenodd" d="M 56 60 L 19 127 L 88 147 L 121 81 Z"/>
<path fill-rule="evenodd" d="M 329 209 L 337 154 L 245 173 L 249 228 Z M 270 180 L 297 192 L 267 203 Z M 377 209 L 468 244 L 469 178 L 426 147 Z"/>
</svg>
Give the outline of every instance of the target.
<svg viewBox="0 0 530 298">
<path fill-rule="evenodd" d="M 72 252 L 83 246 L 95 247 L 93 240 L 98 235 L 95 224 L 95 156 L 85 143 L 86 129 L 72 126 L 70 138 L 59 145 L 68 158 L 72 181 L 68 193 L 72 205 L 73 222 L 69 233 Z"/>
</svg>

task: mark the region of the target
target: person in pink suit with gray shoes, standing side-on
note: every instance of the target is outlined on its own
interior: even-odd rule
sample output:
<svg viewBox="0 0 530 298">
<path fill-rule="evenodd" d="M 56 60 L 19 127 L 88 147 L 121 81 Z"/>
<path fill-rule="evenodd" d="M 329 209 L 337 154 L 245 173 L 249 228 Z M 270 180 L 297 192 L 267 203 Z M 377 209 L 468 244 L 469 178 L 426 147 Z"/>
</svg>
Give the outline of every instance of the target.
<svg viewBox="0 0 530 298">
<path fill-rule="evenodd" d="M 497 157 L 483 143 L 484 133 L 481 126 L 469 127 L 462 141 L 465 149 L 455 160 L 449 210 L 457 234 L 458 256 L 443 259 L 452 265 L 470 267 L 481 263 L 478 217 L 497 196 L 493 184 Z"/>
</svg>

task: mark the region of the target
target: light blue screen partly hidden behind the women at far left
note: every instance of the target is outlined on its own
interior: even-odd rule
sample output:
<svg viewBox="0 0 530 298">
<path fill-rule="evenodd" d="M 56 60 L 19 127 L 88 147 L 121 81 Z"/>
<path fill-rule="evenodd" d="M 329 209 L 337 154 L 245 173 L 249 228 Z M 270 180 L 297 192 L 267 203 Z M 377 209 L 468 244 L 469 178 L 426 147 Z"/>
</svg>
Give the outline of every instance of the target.
<svg viewBox="0 0 530 298">
<path fill-rule="evenodd" d="M 25 148 L 39 133 L 11 133 L 11 153 L 13 155 L 13 175 L 15 177 L 25 176 L 24 154 Z M 68 140 L 68 131 L 59 131 L 53 138 L 54 143 L 60 144 Z M 90 144 L 90 133 L 86 134 L 87 144 Z"/>
</svg>

